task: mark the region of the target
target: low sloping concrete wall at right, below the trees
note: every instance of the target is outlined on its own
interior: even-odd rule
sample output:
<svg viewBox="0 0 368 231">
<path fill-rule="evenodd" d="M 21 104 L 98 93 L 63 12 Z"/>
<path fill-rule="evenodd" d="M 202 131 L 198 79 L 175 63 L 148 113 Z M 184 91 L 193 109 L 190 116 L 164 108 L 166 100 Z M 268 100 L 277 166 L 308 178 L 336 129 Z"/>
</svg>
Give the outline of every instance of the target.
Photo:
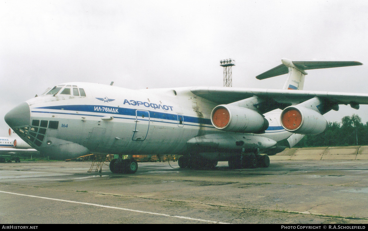
<svg viewBox="0 0 368 231">
<path fill-rule="evenodd" d="M 286 148 L 270 160 L 368 160 L 368 146 Z"/>
</svg>

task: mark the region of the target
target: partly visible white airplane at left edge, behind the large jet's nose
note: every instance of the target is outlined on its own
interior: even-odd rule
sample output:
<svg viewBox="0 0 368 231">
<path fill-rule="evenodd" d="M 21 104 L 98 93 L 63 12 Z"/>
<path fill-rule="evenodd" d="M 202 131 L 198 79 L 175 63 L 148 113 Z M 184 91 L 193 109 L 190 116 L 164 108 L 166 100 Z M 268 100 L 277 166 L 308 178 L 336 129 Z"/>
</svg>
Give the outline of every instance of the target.
<svg viewBox="0 0 368 231">
<path fill-rule="evenodd" d="M 9 136 L 12 136 L 14 132 L 9 129 Z M 32 148 L 20 137 L 0 137 L 0 163 L 4 163 L 6 159 L 4 156 L 11 156 L 21 153 L 38 153 L 38 151 Z M 19 157 L 15 157 L 15 162 L 21 162 Z"/>
</svg>

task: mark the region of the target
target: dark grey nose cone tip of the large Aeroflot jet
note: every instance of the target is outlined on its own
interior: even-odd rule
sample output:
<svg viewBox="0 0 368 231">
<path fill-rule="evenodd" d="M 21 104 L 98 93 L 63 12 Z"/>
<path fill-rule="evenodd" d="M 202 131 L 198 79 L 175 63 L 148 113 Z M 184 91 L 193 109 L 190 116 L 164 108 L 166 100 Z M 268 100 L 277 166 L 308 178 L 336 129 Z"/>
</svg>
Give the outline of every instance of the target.
<svg viewBox="0 0 368 231">
<path fill-rule="evenodd" d="M 23 102 L 6 113 L 4 119 L 11 128 L 29 126 L 31 123 L 31 110 L 28 104 Z"/>
</svg>

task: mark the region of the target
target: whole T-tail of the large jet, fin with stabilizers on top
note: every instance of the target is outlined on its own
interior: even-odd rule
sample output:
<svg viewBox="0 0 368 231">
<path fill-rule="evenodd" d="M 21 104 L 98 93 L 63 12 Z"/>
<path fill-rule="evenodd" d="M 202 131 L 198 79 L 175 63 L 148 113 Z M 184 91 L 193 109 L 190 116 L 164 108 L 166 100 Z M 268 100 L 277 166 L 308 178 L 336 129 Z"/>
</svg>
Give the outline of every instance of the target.
<svg viewBox="0 0 368 231">
<path fill-rule="evenodd" d="M 283 64 L 256 76 L 256 78 L 263 80 L 288 73 L 283 89 L 303 90 L 304 77 L 308 74 L 305 70 L 363 65 L 356 61 L 291 61 L 290 59 L 282 59 L 281 61 Z"/>
</svg>

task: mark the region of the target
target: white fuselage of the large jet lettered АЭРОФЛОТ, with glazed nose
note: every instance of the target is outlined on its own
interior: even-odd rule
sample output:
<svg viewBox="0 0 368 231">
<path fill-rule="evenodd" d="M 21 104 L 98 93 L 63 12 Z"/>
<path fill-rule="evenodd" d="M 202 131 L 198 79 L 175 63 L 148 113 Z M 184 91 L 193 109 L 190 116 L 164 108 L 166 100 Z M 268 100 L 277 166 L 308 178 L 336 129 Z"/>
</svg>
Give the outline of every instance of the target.
<svg viewBox="0 0 368 231">
<path fill-rule="evenodd" d="M 212 125 L 215 106 L 189 87 L 130 90 L 65 83 L 14 108 L 16 121 L 15 111 L 5 119 L 33 148 L 55 158 L 89 153 L 185 155 L 193 137 L 229 133 Z M 280 112 L 264 114 L 269 122 L 265 133 L 244 135 L 286 139 L 292 133 L 280 125 Z"/>
</svg>

